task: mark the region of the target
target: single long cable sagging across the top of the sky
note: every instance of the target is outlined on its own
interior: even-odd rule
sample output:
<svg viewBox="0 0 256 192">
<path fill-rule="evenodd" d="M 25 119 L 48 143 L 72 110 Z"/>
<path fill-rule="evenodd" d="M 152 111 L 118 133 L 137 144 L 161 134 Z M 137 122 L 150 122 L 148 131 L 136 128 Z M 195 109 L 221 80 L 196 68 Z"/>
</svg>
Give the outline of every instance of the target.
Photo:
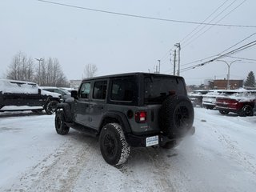
<svg viewBox="0 0 256 192">
<path fill-rule="evenodd" d="M 59 2 L 50 2 L 50 1 L 45 1 L 45 0 L 37 0 L 38 2 L 46 2 L 58 6 L 68 6 L 72 7 L 75 9 L 81 9 L 81 10 L 90 10 L 90 11 L 95 11 L 95 12 L 100 12 L 100 13 L 105 13 L 105 14 L 116 14 L 116 15 L 122 15 L 126 17 L 132 17 L 132 18 L 145 18 L 145 19 L 151 19 L 151 20 L 157 20 L 157 21 L 162 21 L 162 22 L 179 22 L 179 23 L 186 23 L 186 24 L 195 24 L 195 25 L 206 25 L 206 26 L 229 26 L 229 27 L 246 27 L 246 28 L 256 28 L 256 26 L 250 26 L 250 25 L 231 25 L 231 24 L 214 24 L 214 23 L 206 23 L 206 22 L 189 22 L 189 21 L 183 21 L 183 20 L 175 20 L 175 19 L 168 19 L 168 18 L 154 18 L 154 17 L 147 17 L 147 16 L 142 16 L 138 14 L 123 14 L 120 12 L 113 12 L 113 11 L 108 11 L 108 10 L 98 10 L 98 9 L 92 9 L 84 6 L 72 6 L 70 4 L 64 4 L 64 3 L 59 3 Z"/>
</svg>

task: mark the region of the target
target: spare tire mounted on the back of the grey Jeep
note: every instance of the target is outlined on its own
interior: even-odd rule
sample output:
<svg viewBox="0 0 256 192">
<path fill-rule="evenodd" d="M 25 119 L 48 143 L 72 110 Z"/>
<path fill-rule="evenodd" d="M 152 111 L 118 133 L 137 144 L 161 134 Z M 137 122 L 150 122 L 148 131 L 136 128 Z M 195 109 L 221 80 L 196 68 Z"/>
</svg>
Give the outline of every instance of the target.
<svg viewBox="0 0 256 192">
<path fill-rule="evenodd" d="M 185 96 L 170 95 L 159 110 L 159 126 L 170 138 L 183 137 L 194 122 L 194 107 Z"/>
</svg>

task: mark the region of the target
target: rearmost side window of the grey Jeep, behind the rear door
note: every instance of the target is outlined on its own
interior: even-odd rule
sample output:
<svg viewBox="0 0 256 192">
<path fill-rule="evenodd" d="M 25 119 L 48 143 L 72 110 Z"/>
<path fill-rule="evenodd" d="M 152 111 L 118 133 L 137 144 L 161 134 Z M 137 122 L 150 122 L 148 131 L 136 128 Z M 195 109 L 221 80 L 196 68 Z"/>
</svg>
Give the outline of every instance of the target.
<svg viewBox="0 0 256 192">
<path fill-rule="evenodd" d="M 135 88 L 133 78 L 114 79 L 110 99 L 114 101 L 132 102 Z"/>
</svg>

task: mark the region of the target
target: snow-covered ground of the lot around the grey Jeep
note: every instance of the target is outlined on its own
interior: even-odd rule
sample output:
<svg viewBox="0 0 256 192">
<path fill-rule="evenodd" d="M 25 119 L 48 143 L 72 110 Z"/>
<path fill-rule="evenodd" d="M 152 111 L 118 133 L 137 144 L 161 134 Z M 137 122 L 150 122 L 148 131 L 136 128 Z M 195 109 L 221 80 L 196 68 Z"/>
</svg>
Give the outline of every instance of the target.
<svg viewBox="0 0 256 192">
<path fill-rule="evenodd" d="M 98 141 L 54 130 L 54 115 L 0 114 L 0 191 L 255 191 L 256 116 L 195 108 L 196 133 L 174 150 L 132 149 L 106 164 Z"/>
</svg>

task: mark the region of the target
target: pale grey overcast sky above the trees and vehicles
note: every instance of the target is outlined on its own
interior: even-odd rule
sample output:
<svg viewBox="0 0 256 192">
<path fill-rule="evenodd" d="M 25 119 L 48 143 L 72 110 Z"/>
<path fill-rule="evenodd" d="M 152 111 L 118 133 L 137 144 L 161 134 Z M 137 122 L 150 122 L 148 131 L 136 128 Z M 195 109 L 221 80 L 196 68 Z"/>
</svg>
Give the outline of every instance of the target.
<svg viewBox="0 0 256 192">
<path fill-rule="evenodd" d="M 188 22 L 203 22 L 212 14 L 206 22 L 256 26 L 254 0 L 49 1 Z M 198 29 L 194 30 L 196 27 Z M 98 66 L 97 75 L 153 72 L 158 59 L 161 60 L 161 73 L 172 74 L 170 53 L 174 53 L 175 43 L 181 42 L 181 69 L 184 69 L 200 62 L 187 63 L 219 54 L 256 32 L 255 27 L 208 28 L 210 26 L 99 13 L 37 0 L 0 0 L 0 75 L 6 73 L 14 54 L 19 51 L 31 58 L 58 58 L 68 79 L 82 78 L 82 71 L 88 63 Z M 200 32 L 191 34 L 193 30 Z M 186 38 L 188 34 L 190 36 Z M 254 40 L 256 35 L 231 50 Z M 256 46 L 230 56 L 256 59 Z M 236 59 L 222 58 L 226 62 Z M 234 62 L 230 67 L 230 78 L 244 79 L 251 70 L 256 73 L 255 61 Z M 203 83 L 204 79 L 226 78 L 226 74 L 225 62 L 210 62 L 181 73 L 188 85 Z"/>
</svg>

